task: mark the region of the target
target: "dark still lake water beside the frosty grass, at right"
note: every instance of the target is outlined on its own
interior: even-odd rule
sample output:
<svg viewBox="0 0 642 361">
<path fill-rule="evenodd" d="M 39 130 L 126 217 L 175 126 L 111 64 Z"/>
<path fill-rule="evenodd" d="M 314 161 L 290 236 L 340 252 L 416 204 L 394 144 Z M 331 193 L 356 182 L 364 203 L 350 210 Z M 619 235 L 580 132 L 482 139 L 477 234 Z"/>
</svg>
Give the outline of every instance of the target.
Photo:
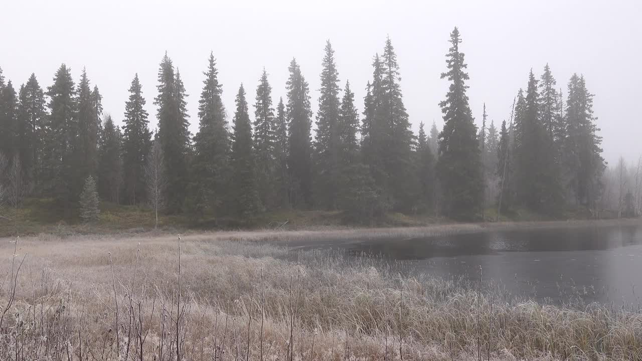
<svg viewBox="0 0 642 361">
<path fill-rule="evenodd" d="M 413 272 L 442 277 L 479 279 L 481 266 L 486 282 L 546 303 L 578 297 L 635 309 L 642 303 L 642 225 L 361 240 L 315 248 L 403 261 Z"/>
</svg>

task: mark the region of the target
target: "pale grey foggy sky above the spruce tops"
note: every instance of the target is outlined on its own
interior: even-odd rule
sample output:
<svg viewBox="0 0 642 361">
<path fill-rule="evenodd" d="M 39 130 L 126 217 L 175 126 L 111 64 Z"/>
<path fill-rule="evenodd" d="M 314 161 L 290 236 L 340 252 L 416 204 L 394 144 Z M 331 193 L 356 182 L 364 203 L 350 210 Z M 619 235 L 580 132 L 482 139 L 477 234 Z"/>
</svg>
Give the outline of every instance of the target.
<svg viewBox="0 0 642 361">
<path fill-rule="evenodd" d="M 60 3 L 60 4 L 58 4 Z M 187 94 L 190 130 L 198 130 L 202 72 L 217 59 L 228 120 L 245 85 L 254 119 L 256 85 L 265 66 L 273 102 L 285 98 L 288 64 L 297 58 L 317 108 L 325 40 L 341 79 L 363 109 L 372 57 L 390 35 L 401 67 L 403 99 L 413 130 L 441 128 L 449 33 L 458 26 L 478 125 L 486 103 L 499 127 L 510 116 L 528 71 L 548 62 L 564 92 L 573 72 L 593 92 L 604 157 L 633 161 L 642 153 L 642 1 L 28 1 L 1 0 L 0 67 L 14 87 L 33 72 L 46 89 L 61 63 L 78 82 L 83 66 L 103 95 L 105 112 L 121 123 L 128 88 L 138 73 L 154 128 L 157 71 L 168 51 Z M 428 129 L 427 129 L 428 130 Z"/>
</svg>

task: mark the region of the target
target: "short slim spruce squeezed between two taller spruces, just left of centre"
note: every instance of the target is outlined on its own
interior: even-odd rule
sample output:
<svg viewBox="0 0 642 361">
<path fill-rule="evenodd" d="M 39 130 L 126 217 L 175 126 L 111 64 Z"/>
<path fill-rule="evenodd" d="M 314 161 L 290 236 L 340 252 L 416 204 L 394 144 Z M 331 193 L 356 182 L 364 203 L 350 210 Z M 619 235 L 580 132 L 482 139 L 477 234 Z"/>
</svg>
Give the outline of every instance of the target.
<svg viewBox="0 0 642 361">
<path fill-rule="evenodd" d="M 275 161 L 275 205 L 290 206 L 290 177 L 288 175 L 288 122 L 283 98 L 279 98 L 277 116 L 274 126 L 274 153 Z"/>
</svg>

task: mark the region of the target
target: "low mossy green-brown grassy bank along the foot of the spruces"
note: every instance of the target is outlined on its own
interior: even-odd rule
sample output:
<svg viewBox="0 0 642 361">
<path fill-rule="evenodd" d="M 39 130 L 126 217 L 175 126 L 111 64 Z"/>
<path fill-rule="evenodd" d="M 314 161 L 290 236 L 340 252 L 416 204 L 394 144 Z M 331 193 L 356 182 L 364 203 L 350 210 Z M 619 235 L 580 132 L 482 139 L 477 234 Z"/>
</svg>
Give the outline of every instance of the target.
<svg viewBox="0 0 642 361">
<path fill-rule="evenodd" d="M 37 235 L 40 233 L 72 236 L 74 234 L 115 234 L 141 233 L 150 231 L 154 226 L 154 217 L 150 209 L 143 206 L 123 206 L 108 202 L 101 204 L 101 216 L 98 222 L 85 224 L 78 217 L 77 209 L 59 209 L 51 199 L 28 198 L 19 209 L 0 209 L 0 236 Z M 610 213 L 603 213 L 612 216 Z M 496 219 L 493 209 L 487 209 L 487 219 Z M 430 233 L 449 233 L 483 231 L 485 229 L 507 229 L 509 227 L 555 227 L 556 224 L 568 225 L 607 224 L 617 222 L 636 222 L 630 220 L 600 220 L 595 222 L 590 213 L 578 209 L 566 211 L 560 219 L 536 215 L 524 210 L 516 210 L 508 216 L 502 216 L 500 222 L 476 224 L 461 224 L 447 218 L 431 215 L 404 215 L 388 213 L 385 218 L 377 220 L 376 224 L 362 225 L 351 222 L 340 211 L 300 211 L 284 210 L 263 213 L 250 218 L 213 218 L 204 216 L 195 218 L 189 215 L 162 215 L 160 229 L 169 233 L 186 233 L 186 231 L 213 230 L 264 230 L 279 229 L 289 231 L 302 230 L 336 230 L 363 229 L 370 226 L 373 232 L 381 234 L 381 229 L 394 227 L 425 228 L 430 227 Z M 436 227 L 435 227 L 436 226 Z M 411 231 L 412 232 L 412 231 Z M 426 235 L 428 231 L 419 231 Z"/>
</svg>

